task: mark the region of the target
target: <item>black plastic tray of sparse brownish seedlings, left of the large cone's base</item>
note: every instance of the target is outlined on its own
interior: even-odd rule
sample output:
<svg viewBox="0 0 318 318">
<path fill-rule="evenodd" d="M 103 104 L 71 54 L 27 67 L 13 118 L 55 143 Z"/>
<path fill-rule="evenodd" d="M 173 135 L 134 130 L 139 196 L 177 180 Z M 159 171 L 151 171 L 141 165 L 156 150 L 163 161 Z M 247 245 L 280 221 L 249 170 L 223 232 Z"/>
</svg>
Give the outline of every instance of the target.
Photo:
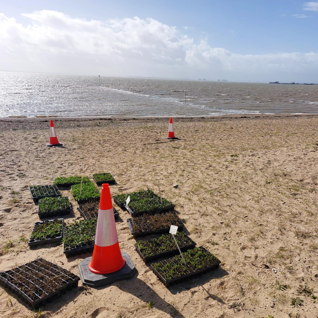
<svg viewBox="0 0 318 318">
<path fill-rule="evenodd" d="M 57 285 L 56 289 L 48 292 L 45 290 L 46 284 L 44 281 L 48 278 L 51 281 L 59 278 L 62 282 L 57 284 L 54 281 Z M 17 266 L 5 272 L 0 272 L 1 286 L 9 288 L 34 309 L 42 307 L 45 302 L 51 302 L 73 288 L 77 288 L 79 279 L 72 272 L 43 258 L 35 259 L 30 263 Z"/>
</svg>

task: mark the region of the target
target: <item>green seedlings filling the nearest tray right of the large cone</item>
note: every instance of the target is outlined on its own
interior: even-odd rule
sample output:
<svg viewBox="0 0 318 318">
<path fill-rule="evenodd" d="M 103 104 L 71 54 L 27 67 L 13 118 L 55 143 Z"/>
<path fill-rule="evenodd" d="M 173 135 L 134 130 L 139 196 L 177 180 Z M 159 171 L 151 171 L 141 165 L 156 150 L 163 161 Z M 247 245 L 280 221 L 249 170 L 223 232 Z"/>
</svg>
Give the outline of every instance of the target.
<svg viewBox="0 0 318 318">
<path fill-rule="evenodd" d="M 204 247 L 195 247 L 183 253 L 187 265 L 184 265 L 181 255 L 164 259 L 151 265 L 165 279 L 171 280 L 186 274 L 194 273 L 219 262 L 219 259 Z"/>
</svg>

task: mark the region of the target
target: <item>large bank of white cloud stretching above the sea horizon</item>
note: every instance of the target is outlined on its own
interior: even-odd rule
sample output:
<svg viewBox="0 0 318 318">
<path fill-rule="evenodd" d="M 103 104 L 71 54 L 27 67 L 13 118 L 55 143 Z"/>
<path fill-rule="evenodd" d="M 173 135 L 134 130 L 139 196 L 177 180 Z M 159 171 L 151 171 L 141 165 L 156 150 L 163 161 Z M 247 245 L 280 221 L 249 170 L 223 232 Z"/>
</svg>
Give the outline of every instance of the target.
<svg viewBox="0 0 318 318">
<path fill-rule="evenodd" d="M 318 72 L 318 53 L 232 53 L 211 47 L 206 33 L 195 41 L 152 18 L 87 21 L 49 10 L 23 16 L 26 25 L 0 14 L 2 70 L 304 81 Z"/>
</svg>

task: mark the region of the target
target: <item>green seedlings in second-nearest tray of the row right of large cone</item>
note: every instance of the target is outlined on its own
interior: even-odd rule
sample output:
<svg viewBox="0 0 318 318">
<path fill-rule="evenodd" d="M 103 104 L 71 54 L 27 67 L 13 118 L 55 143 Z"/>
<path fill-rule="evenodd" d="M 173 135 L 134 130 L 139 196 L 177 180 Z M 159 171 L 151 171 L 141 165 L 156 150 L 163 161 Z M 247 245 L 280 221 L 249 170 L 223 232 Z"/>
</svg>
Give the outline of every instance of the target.
<svg viewBox="0 0 318 318">
<path fill-rule="evenodd" d="M 175 238 L 180 248 L 194 244 L 194 242 L 184 232 L 177 232 Z M 140 252 L 144 257 L 173 251 L 177 248 L 172 235 L 165 234 L 162 234 L 162 236 L 158 239 L 152 239 L 149 241 L 137 241 L 136 246 L 138 246 Z"/>
</svg>

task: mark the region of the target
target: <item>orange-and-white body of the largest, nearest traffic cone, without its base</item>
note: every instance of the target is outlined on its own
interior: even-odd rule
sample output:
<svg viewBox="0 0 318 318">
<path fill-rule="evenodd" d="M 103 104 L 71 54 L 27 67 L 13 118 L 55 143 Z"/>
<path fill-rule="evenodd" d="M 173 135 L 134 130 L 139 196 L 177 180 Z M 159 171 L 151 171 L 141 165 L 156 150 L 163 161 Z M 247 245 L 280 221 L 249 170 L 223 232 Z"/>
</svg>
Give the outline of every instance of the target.
<svg viewBox="0 0 318 318">
<path fill-rule="evenodd" d="M 88 264 L 88 268 L 95 274 L 108 274 L 120 270 L 125 263 L 126 261 L 119 248 L 108 183 L 103 183 L 100 193 L 93 257 Z"/>
</svg>

